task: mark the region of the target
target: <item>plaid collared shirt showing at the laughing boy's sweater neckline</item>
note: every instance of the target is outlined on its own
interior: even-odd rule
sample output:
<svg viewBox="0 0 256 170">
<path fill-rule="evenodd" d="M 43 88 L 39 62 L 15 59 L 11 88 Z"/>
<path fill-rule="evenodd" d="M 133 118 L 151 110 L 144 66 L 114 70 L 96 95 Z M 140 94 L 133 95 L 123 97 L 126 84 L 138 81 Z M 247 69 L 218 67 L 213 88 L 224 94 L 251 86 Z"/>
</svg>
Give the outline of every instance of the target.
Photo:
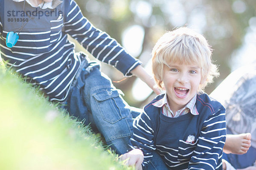
<svg viewBox="0 0 256 170">
<path fill-rule="evenodd" d="M 191 113 L 192 115 L 198 115 L 198 111 L 195 106 L 196 102 L 196 95 L 186 104 L 184 108 L 181 108 L 178 110 L 175 114 L 172 112 L 172 110 L 169 107 L 169 104 L 167 102 L 167 94 L 163 96 L 162 99 L 158 100 L 157 102 L 154 102 L 153 105 L 158 108 L 163 108 L 163 115 L 168 117 L 178 117 L 181 115 L 184 115 L 186 113 Z"/>
</svg>

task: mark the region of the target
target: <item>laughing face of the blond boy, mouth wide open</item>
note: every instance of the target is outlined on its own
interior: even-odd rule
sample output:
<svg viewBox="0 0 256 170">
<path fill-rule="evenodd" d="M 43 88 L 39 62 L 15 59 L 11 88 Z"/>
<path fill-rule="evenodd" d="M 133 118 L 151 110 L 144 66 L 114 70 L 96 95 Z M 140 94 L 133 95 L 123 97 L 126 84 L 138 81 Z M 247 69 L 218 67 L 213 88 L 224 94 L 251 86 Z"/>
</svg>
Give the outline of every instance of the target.
<svg viewBox="0 0 256 170">
<path fill-rule="evenodd" d="M 178 62 L 163 66 L 162 81 L 173 113 L 183 108 L 195 96 L 199 85 L 204 83 L 201 68 L 197 64 Z"/>
</svg>

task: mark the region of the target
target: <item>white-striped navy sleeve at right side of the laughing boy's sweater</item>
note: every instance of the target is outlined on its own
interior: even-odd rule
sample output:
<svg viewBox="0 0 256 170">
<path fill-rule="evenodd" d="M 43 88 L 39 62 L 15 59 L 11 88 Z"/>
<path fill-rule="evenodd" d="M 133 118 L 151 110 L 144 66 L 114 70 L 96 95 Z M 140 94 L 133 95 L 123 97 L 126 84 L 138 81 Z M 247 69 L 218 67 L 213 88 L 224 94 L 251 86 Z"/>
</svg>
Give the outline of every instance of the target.
<svg viewBox="0 0 256 170">
<path fill-rule="evenodd" d="M 222 170 L 221 157 L 226 139 L 225 109 L 208 117 L 203 123 L 189 170 Z"/>
</svg>

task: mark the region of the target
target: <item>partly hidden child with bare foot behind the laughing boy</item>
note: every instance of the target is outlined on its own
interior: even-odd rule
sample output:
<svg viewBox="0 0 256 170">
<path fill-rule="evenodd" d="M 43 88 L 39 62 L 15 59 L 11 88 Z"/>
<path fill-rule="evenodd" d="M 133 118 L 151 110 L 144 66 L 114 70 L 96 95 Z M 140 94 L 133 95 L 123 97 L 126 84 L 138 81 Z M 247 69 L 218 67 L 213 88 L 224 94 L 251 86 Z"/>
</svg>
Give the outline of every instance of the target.
<svg viewBox="0 0 256 170">
<path fill-rule="evenodd" d="M 228 135 L 222 157 L 227 170 L 256 170 L 255 84 L 256 62 L 233 71 L 210 94 L 227 108 Z"/>
</svg>

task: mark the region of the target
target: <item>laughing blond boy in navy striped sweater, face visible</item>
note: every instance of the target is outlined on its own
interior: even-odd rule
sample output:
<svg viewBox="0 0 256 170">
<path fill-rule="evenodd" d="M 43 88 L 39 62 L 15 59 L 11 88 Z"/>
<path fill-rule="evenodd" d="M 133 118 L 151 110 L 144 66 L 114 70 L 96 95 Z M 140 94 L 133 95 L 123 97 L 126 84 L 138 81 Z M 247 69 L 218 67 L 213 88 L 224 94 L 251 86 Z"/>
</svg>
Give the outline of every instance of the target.
<svg viewBox="0 0 256 170">
<path fill-rule="evenodd" d="M 167 32 L 158 40 L 152 68 L 158 87 L 166 93 L 134 120 L 130 146 L 136 150 L 122 158 L 130 158 L 128 165 L 140 169 L 143 152 L 146 170 L 222 170 L 225 108 L 203 93 L 218 75 L 211 54 L 204 36 L 189 28 Z"/>
</svg>

